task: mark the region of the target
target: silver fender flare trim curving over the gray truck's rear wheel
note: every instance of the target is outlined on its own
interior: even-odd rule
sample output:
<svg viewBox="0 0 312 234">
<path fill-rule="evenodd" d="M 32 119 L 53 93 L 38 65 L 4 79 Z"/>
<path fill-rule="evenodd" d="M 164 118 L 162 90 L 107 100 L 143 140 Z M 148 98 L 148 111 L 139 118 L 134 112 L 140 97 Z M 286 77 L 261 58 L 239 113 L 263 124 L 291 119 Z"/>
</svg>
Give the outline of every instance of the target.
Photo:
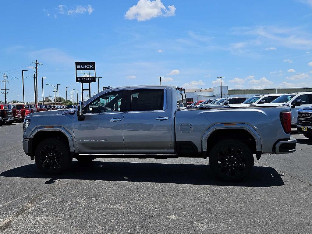
<svg viewBox="0 0 312 234">
<path fill-rule="evenodd" d="M 243 129 L 246 130 L 253 136 L 256 142 L 256 151 L 262 151 L 261 137 L 255 128 L 248 124 L 236 124 L 236 125 L 224 125 L 224 124 L 214 124 L 210 126 L 202 136 L 202 151 L 207 151 L 207 140 L 209 136 L 216 130 L 219 129 Z"/>
</svg>

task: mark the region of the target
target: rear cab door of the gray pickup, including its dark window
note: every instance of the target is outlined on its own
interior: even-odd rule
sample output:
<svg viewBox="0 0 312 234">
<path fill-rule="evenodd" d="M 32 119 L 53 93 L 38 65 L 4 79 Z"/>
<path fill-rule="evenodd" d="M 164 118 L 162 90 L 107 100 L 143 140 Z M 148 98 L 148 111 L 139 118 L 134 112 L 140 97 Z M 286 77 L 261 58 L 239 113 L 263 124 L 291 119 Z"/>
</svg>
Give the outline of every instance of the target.
<svg viewBox="0 0 312 234">
<path fill-rule="evenodd" d="M 166 88 L 129 89 L 124 113 L 127 150 L 146 153 L 172 146 L 171 92 Z"/>
</svg>

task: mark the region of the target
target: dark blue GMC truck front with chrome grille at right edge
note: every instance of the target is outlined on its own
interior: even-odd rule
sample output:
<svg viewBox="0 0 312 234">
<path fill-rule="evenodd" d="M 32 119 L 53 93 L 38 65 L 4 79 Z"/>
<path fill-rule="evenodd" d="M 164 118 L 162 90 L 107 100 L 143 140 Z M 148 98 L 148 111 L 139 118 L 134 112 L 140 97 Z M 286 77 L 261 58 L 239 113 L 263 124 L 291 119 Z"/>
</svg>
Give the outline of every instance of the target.
<svg viewBox="0 0 312 234">
<path fill-rule="evenodd" d="M 306 138 L 312 139 L 312 107 L 298 110 L 297 131 Z"/>
</svg>

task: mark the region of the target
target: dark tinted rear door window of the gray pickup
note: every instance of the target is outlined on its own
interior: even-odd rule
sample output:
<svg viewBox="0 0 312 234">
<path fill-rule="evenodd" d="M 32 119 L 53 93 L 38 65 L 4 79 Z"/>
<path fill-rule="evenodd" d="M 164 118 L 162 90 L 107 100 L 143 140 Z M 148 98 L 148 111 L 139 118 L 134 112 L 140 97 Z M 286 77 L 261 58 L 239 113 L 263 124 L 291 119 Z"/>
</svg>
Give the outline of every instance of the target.
<svg viewBox="0 0 312 234">
<path fill-rule="evenodd" d="M 163 110 L 163 89 L 132 90 L 130 111 Z"/>
</svg>

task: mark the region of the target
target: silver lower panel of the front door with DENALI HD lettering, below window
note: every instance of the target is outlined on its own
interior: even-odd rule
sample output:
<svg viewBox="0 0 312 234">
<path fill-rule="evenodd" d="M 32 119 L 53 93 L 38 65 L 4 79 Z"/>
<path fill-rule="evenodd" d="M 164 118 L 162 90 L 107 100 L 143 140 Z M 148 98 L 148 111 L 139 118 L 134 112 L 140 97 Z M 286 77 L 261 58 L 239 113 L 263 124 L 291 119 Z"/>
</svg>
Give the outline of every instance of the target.
<svg viewBox="0 0 312 234">
<path fill-rule="evenodd" d="M 74 118 L 74 134 L 80 151 L 125 150 L 124 113 L 85 114 L 83 121 Z M 115 120 L 114 120 L 115 119 Z"/>
</svg>

